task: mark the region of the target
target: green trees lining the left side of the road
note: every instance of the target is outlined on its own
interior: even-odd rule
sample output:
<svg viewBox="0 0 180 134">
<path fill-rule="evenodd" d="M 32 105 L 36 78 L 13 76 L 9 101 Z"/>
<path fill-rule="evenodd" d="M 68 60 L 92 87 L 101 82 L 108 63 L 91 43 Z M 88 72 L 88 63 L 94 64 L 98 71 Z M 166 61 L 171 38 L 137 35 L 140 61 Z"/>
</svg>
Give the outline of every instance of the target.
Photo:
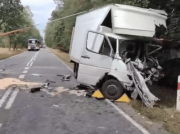
<svg viewBox="0 0 180 134">
<path fill-rule="evenodd" d="M 24 7 L 20 0 L 0 1 L 0 34 L 33 27 L 33 25 L 33 14 L 30 7 Z M 42 41 L 39 30 L 31 28 L 26 32 L 0 36 L 0 47 L 9 48 L 9 50 L 26 48 L 29 38 L 37 38 Z"/>
</svg>

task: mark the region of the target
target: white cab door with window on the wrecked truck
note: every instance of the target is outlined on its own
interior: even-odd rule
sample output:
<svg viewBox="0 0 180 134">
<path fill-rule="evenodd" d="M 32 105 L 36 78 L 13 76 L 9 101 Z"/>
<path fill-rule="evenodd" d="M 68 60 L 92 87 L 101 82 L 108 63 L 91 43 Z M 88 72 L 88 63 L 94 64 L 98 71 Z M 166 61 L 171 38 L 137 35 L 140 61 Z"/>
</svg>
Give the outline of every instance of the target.
<svg viewBox="0 0 180 134">
<path fill-rule="evenodd" d="M 80 59 L 78 81 L 96 85 L 106 72 L 110 72 L 112 55 L 113 49 L 108 38 L 100 33 L 89 32 L 86 48 Z"/>
</svg>

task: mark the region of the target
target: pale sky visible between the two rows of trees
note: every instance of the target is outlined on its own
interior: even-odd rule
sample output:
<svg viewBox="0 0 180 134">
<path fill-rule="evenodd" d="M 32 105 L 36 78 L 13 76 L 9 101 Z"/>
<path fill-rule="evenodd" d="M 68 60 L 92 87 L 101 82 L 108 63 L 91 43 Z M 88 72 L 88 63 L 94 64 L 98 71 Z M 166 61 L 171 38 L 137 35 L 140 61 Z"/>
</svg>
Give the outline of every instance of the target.
<svg viewBox="0 0 180 134">
<path fill-rule="evenodd" d="M 45 22 L 48 21 L 52 11 L 56 8 L 54 0 L 21 0 L 21 3 L 31 8 L 34 22 L 35 24 L 40 24 L 37 28 L 40 30 L 41 35 L 44 36 Z"/>
</svg>

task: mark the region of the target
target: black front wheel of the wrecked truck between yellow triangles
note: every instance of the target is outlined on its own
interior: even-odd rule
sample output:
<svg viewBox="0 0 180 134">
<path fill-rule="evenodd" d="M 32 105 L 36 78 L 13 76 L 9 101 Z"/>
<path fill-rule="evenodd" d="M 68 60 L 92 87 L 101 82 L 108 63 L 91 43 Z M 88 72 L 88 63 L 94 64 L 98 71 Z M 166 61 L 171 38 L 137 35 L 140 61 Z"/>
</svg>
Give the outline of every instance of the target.
<svg viewBox="0 0 180 134">
<path fill-rule="evenodd" d="M 105 98 L 117 100 L 123 95 L 124 89 L 119 81 L 110 79 L 104 82 L 101 91 Z"/>
</svg>

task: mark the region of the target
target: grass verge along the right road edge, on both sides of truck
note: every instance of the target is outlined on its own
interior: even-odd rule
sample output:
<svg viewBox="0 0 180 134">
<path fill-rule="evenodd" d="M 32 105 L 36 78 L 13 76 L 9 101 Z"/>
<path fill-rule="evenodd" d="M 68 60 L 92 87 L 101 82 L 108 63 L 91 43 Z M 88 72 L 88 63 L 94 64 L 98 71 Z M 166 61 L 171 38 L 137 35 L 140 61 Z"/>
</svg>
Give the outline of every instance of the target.
<svg viewBox="0 0 180 134">
<path fill-rule="evenodd" d="M 57 49 L 50 49 L 56 56 L 61 58 L 71 68 L 69 54 Z M 149 118 L 153 122 L 160 122 L 171 134 L 180 133 L 180 112 L 175 110 L 177 89 L 158 86 L 149 86 L 150 91 L 161 99 L 154 108 L 144 106 L 141 100 L 131 101 L 132 106 L 138 113 Z"/>
</svg>

